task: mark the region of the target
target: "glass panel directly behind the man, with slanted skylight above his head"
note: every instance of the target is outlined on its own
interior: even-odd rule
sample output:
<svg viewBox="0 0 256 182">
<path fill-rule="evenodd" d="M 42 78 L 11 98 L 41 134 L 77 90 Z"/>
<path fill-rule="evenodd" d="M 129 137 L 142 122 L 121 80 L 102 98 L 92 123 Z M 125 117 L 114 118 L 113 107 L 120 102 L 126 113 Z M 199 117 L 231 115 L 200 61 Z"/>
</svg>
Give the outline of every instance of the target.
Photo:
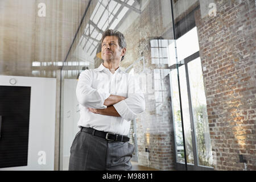
<svg viewBox="0 0 256 182">
<path fill-rule="evenodd" d="M 174 129 L 170 120 L 168 47 L 174 39 L 174 34 L 171 28 L 169 0 L 89 1 L 65 61 L 79 62 L 79 66 L 64 65 L 61 71 L 61 121 L 63 121 L 61 169 L 65 170 L 68 167 L 68 147 L 71 147 L 72 139 L 76 134 L 77 101 L 75 96 L 72 96 L 72 92 L 75 89 L 77 75 L 83 71 L 83 67 L 94 69 L 103 62 L 100 57 L 100 41 L 103 32 L 108 28 L 121 31 L 125 35 L 127 51 L 125 59 L 121 62 L 121 68 L 126 73 L 138 77 L 146 100 L 146 111 L 144 114 L 139 114 L 130 126 L 130 142 L 138 146 L 132 160 L 135 165 L 172 169 L 174 168 L 174 159 L 171 155 L 174 150 L 172 133 Z M 80 66 L 81 64 L 84 66 Z M 68 109 L 72 107 L 71 105 L 73 109 Z"/>
</svg>

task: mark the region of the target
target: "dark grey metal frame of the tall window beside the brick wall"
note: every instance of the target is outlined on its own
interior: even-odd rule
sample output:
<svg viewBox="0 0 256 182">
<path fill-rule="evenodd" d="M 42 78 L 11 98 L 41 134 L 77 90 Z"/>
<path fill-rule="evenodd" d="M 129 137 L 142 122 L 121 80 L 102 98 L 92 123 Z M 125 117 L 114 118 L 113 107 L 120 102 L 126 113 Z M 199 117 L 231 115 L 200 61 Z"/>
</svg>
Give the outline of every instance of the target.
<svg viewBox="0 0 256 182">
<path fill-rule="evenodd" d="M 187 33 L 188 31 L 192 30 L 192 28 L 196 27 L 195 19 L 193 18 L 193 12 L 197 10 L 199 6 L 197 6 L 194 10 L 191 11 L 185 18 L 181 19 L 179 22 L 174 23 L 174 13 L 173 13 L 173 4 L 171 0 L 171 11 L 172 11 L 172 25 L 173 25 L 173 31 L 174 31 L 174 40 L 175 40 L 175 51 L 176 51 L 176 40 L 180 38 L 182 35 Z M 191 18 L 192 17 L 192 18 Z M 181 26 L 186 22 L 186 20 L 191 20 L 191 23 L 189 25 Z M 183 131 L 183 144 L 184 144 L 184 158 L 185 163 L 177 162 L 177 144 L 176 139 L 174 138 L 174 151 L 175 151 L 175 168 L 177 170 L 201 170 L 201 171 L 212 171 L 213 167 L 208 166 L 201 166 L 199 165 L 199 159 L 197 155 L 197 143 L 196 143 L 196 134 L 195 134 L 195 123 L 193 121 L 193 111 L 192 111 L 192 101 L 191 101 L 191 92 L 190 92 L 190 84 L 189 84 L 189 76 L 188 76 L 188 63 L 190 61 L 193 61 L 200 57 L 200 51 L 197 51 L 193 53 L 192 55 L 186 57 L 185 59 L 181 61 L 177 61 L 177 52 L 176 52 L 176 64 L 171 65 L 169 68 L 177 69 L 177 81 L 179 86 L 179 102 L 180 102 L 180 111 L 181 111 L 181 124 L 182 124 L 182 131 Z M 186 76 L 186 82 L 187 82 L 187 93 L 188 93 L 188 105 L 189 105 L 189 115 L 190 115 L 190 124 L 191 124 L 191 136 L 192 136 L 192 148 L 193 148 L 193 160 L 194 164 L 188 164 L 186 159 L 186 150 L 185 150 L 185 135 L 184 135 L 184 126 L 183 126 L 183 113 L 182 113 L 182 106 L 181 106 L 181 93 L 180 93 L 180 79 L 179 79 L 179 67 L 182 65 L 185 65 L 185 76 Z M 171 79 L 170 79 L 171 80 Z M 171 91 L 172 92 L 172 91 Z M 173 120 L 173 122 L 175 122 Z M 174 137 L 175 137 L 175 125 L 174 126 Z"/>
</svg>

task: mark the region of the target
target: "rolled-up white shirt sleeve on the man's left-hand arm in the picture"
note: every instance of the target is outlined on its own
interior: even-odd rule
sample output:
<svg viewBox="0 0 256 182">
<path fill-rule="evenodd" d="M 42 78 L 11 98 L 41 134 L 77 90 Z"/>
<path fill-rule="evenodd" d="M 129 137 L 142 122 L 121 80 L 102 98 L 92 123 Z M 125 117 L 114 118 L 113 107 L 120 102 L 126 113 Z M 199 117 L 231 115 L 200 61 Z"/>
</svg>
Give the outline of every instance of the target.
<svg viewBox="0 0 256 182">
<path fill-rule="evenodd" d="M 104 101 L 110 96 L 110 93 L 104 89 L 92 88 L 92 73 L 85 70 L 80 73 L 79 81 L 76 87 L 76 97 L 79 104 L 94 109 L 106 109 Z"/>
</svg>

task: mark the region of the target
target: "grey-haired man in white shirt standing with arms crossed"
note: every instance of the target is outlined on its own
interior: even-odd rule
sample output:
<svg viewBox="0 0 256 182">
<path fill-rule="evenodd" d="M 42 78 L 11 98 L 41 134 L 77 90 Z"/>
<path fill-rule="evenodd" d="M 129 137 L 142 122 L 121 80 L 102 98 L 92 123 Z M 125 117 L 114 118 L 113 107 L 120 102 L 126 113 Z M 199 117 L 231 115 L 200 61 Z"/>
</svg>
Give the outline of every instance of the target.
<svg viewBox="0 0 256 182">
<path fill-rule="evenodd" d="M 79 76 L 81 130 L 71 146 L 69 170 L 131 170 L 134 146 L 127 135 L 145 101 L 135 79 L 119 68 L 125 53 L 123 34 L 107 30 L 101 39 L 104 63 Z"/>
</svg>

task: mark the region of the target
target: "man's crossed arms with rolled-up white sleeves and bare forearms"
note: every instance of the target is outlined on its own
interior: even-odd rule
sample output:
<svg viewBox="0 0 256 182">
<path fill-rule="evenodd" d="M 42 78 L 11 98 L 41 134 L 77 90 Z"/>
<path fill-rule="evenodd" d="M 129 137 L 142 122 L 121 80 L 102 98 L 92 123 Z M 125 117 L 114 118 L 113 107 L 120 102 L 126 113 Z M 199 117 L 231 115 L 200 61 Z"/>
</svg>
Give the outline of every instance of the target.
<svg viewBox="0 0 256 182">
<path fill-rule="evenodd" d="M 134 78 L 129 79 L 127 98 L 112 95 L 101 88 L 92 88 L 92 80 L 92 73 L 86 70 L 80 74 L 76 88 L 77 101 L 92 113 L 122 117 L 130 121 L 145 110 L 143 93 Z"/>
</svg>

